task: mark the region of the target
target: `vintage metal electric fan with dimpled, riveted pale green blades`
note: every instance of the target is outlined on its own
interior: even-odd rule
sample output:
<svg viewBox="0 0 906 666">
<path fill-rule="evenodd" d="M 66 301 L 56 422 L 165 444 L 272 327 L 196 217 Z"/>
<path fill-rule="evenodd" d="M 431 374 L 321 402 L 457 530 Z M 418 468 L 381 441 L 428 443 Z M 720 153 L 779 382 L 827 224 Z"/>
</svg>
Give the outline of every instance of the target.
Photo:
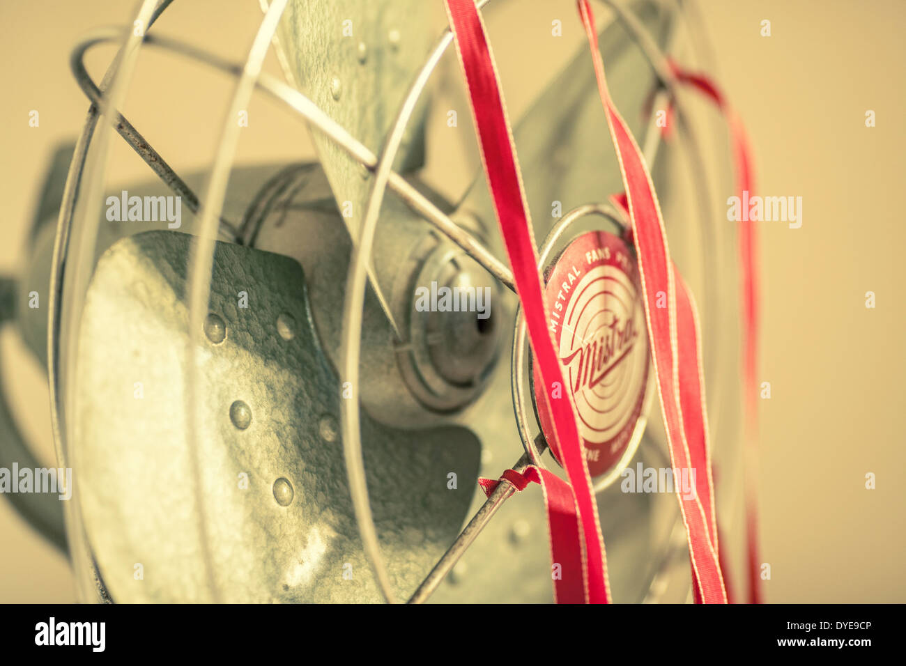
<svg viewBox="0 0 906 666">
<path fill-rule="evenodd" d="M 69 503 L 11 496 L 17 508 L 68 547 L 85 601 L 549 601 L 540 492 L 486 501 L 477 487 L 478 476 L 525 465 L 525 444 L 545 445 L 494 209 L 480 175 L 455 201 L 419 179 L 435 157 L 424 141 L 439 112 L 426 103 L 431 73 L 455 57 L 441 5 L 263 3 L 251 50 L 226 62 L 166 37 L 170 4 L 146 0 L 135 24 L 99 30 L 72 53 L 92 107 L 74 153 L 63 151 L 47 177 L 32 264 L 5 283 L 7 294 L 49 285 L 52 314 L 48 323 L 19 294 L 17 310 L 5 298 L 5 318 L 47 364 L 58 464 L 73 469 L 74 493 Z M 708 63 L 686 2 L 598 5 L 614 98 L 698 297 L 718 512 L 731 518 L 740 477 L 735 230 L 715 209 L 731 176 L 725 130 L 682 96 L 672 100 L 682 119 L 673 139 L 658 122 L 670 101 L 659 85 L 665 54 Z M 574 16 L 573 3 L 559 14 Z M 82 57 L 102 42 L 122 46 L 92 82 Z M 168 161 L 178 156 L 159 155 L 117 111 L 151 48 L 236 76 L 204 172 L 178 173 Z M 261 72 L 270 48 L 285 81 Z M 260 94 L 311 126 L 318 162 L 233 164 L 236 118 Z M 575 238 L 625 224 L 608 202 L 622 185 L 588 54 L 576 53 L 514 120 L 550 275 Z M 109 221 L 120 192 L 108 191 L 104 167 L 116 134 L 156 174 L 129 197 L 161 206 L 180 197 L 178 229 L 162 214 L 141 226 Z M 483 317 L 418 307 L 419 287 L 431 286 L 487 294 L 490 307 Z M 618 314 L 604 325 L 625 326 Z M 631 318 L 631 306 L 622 315 Z M 684 601 L 676 497 L 621 488 L 627 466 L 670 468 L 658 410 L 645 418 L 641 349 L 634 371 L 601 384 L 617 410 L 630 392 L 644 397 L 619 461 L 595 478 L 612 592 L 623 602 Z M 0 419 L 2 462 L 34 466 L 9 410 Z M 558 469 L 549 453 L 545 461 Z"/>
</svg>

